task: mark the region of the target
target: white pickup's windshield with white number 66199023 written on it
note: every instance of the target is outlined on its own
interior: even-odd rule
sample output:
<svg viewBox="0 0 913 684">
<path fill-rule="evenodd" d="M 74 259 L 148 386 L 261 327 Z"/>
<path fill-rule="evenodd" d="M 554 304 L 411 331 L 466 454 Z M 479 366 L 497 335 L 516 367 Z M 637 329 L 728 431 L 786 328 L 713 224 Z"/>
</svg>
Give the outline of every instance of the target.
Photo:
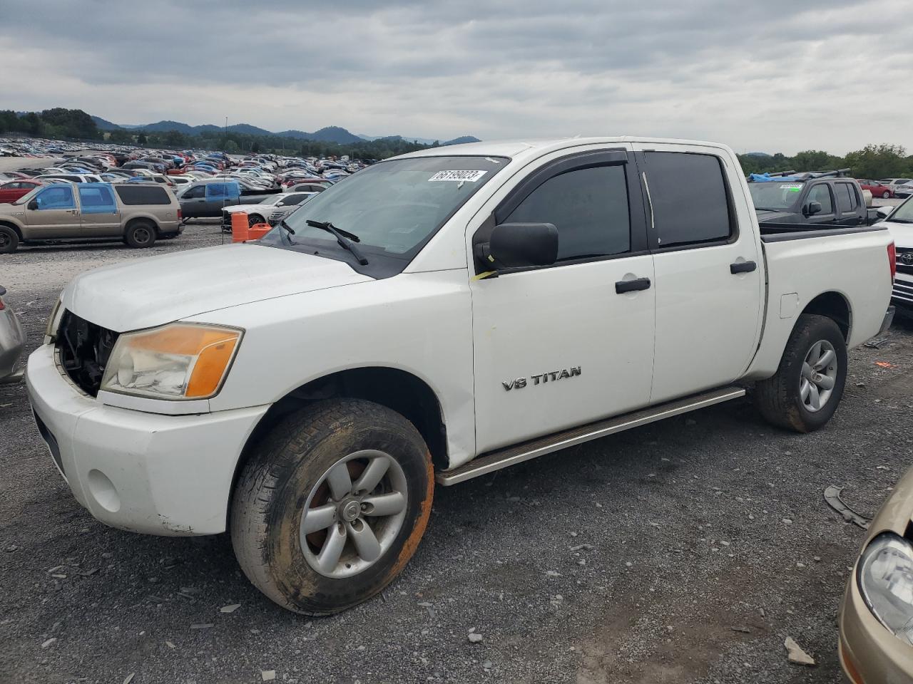
<svg viewBox="0 0 913 684">
<path fill-rule="evenodd" d="M 308 225 L 330 222 L 354 233 L 358 248 L 374 264 L 401 262 L 401 271 L 441 225 L 499 169 L 506 158 L 416 157 L 383 161 L 340 181 L 304 202 L 287 219 L 295 248 L 352 262 L 331 233 Z M 260 242 L 288 246 L 278 230 Z M 390 264 L 387 265 L 387 269 Z M 370 269 L 369 269 L 370 270 Z"/>
</svg>

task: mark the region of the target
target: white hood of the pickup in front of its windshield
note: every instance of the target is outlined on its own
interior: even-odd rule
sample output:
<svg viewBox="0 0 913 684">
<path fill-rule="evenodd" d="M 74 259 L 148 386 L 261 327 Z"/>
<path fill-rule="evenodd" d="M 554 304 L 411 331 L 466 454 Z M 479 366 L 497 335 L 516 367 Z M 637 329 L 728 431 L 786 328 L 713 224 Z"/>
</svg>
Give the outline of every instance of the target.
<svg viewBox="0 0 913 684">
<path fill-rule="evenodd" d="M 341 261 L 225 244 L 102 266 L 74 278 L 63 306 L 117 332 L 274 297 L 372 280 Z"/>
</svg>

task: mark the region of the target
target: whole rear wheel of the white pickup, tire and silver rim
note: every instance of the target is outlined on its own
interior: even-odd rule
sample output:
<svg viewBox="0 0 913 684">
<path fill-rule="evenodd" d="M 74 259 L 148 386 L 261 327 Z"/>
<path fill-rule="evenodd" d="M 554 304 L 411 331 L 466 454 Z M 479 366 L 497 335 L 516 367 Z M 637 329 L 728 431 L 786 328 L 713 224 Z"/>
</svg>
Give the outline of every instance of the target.
<svg viewBox="0 0 913 684">
<path fill-rule="evenodd" d="M 787 430 L 824 427 L 844 394 L 846 342 L 827 316 L 803 315 L 792 330 L 777 372 L 761 380 L 755 399 L 761 415 Z"/>
</svg>

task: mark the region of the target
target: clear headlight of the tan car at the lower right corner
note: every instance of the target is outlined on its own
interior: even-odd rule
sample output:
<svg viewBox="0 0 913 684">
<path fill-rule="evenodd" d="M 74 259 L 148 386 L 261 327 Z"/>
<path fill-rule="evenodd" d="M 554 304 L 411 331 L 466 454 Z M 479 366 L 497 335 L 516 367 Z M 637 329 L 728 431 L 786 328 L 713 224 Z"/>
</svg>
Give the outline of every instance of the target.
<svg viewBox="0 0 913 684">
<path fill-rule="evenodd" d="M 856 580 L 878 622 L 913 645 L 913 544 L 897 534 L 879 534 L 866 546 Z"/>
</svg>

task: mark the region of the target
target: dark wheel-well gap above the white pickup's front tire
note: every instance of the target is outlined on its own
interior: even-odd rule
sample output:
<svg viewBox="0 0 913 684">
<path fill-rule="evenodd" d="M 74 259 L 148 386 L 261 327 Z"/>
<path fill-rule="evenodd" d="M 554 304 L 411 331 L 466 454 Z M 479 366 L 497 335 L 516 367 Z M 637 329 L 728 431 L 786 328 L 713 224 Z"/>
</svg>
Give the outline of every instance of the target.
<svg viewBox="0 0 913 684">
<path fill-rule="evenodd" d="M 448 465 L 444 410 L 434 389 L 415 374 L 401 368 L 368 366 L 339 370 L 289 391 L 275 401 L 247 437 L 235 464 L 231 492 L 256 445 L 289 413 L 320 399 L 365 399 L 392 409 L 415 425 L 436 470 Z M 226 513 L 230 513 L 230 506 Z"/>
</svg>

